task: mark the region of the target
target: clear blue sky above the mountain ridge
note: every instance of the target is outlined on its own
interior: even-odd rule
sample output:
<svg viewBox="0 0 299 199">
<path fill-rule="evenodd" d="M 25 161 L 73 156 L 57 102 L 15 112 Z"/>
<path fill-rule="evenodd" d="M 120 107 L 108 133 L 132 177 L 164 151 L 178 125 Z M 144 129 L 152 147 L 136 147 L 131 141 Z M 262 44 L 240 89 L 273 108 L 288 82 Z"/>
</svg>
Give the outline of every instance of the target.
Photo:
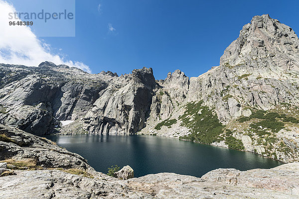
<svg viewBox="0 0 299 199">
<path fill-rule="evenodd" d="M 254 15 L 269 13 L 297 32 L 298 10 L 296 0 L 76 0 L 76 36 L 39 39 L 92 73 L 146 66 L 156 79 L 176 69 L 194 77 L 219 65 Z"/>
</svg>

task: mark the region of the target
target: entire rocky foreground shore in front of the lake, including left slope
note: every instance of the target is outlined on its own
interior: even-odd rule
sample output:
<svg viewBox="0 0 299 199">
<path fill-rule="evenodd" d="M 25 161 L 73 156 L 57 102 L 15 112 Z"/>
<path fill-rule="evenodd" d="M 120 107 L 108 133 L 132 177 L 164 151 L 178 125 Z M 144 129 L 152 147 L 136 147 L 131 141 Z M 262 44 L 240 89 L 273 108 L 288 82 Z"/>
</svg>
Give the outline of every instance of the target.
<svg viewBox="0 0 299 199">
<path fill-rule="evenodd" d="M 0 125 L 0 199 L 296 199 L 299 163 L 273 169 L 217 169 L 201 178 L 174 173 L 119 180 L 96 172 L 55 143 Z"/>
</svg>

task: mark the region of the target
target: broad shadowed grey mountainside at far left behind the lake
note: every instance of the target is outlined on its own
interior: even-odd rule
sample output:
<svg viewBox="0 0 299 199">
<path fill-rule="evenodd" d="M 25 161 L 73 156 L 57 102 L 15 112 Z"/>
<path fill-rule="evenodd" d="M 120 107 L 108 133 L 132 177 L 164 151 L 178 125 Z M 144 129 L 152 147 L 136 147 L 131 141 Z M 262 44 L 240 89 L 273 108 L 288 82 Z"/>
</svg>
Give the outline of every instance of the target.
<svg viewBox="0 0 299 199">
<path fill-rule="evenodd" d="M 1 64 L 0 73 L 1 123 L 37 135 L 59 125 L 58 120 L 85 115 L 113 79 L 50 62 L 38 67 Z"/>
</svg>

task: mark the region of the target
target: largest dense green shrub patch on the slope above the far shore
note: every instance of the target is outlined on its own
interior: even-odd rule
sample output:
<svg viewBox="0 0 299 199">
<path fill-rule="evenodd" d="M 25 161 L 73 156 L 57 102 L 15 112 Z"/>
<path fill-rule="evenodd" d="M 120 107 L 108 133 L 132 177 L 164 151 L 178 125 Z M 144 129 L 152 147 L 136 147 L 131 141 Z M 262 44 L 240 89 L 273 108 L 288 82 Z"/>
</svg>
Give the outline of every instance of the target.
<svg viewBox="0 0 299 199">
<path fill-rule="evenodd" d="M 180 137 L 189 141 L 211 144 L 223 140 L 220 134 L 223 132 L 224 125 L 219 122 L 213 109 L 202 106 L 203 101 L 190 102 L 185 105 L 186 111 L 179 116 L 182 125 L 191 129 L 191 134 Z"/>
</svg>

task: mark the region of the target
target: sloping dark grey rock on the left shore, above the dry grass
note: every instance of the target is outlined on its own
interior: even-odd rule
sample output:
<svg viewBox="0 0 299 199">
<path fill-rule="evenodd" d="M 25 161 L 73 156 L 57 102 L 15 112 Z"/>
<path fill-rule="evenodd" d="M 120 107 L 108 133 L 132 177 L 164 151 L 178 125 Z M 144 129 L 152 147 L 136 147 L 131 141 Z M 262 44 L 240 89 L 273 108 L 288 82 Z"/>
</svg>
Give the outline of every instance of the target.
<svg viewBox="0 0 299 199">
<path fill-rule="evenodd" d="M 0 125 L 0 134 L 5 134 L 11 140 L 0 141 L 0 160 L 34 159 L 37 166 L 44 168 L 73 168 L 89 173 L 95 172 L 83 157 L 57 146 L 48 139 L 3 125 Z M 5 163 L 2 167 L 5 167 Z"/>
</svg>

